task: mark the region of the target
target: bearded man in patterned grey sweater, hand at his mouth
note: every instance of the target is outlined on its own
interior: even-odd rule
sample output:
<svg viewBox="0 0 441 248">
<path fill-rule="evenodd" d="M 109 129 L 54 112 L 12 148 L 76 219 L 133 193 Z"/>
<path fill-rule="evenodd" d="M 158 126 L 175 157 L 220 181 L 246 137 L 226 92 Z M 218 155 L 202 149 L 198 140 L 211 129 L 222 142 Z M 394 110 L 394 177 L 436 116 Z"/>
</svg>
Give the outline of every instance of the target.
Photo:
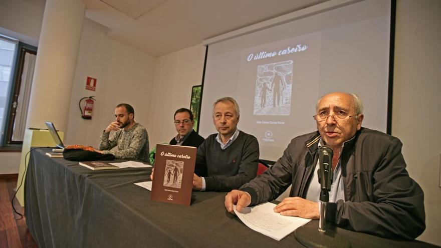
<svg viewBox="0 0 441 248">
<path fill-rule="evenodd" d="M 100 150 L 104 154 L 113 154 L 119 159 L 134 159 L 148 161 L 148 134 L 147 130 L 135 120 L 133 107 L 121 103 L 115 109 L 115 121 L 101 134 Z M 110 132 L 115 133 L 109 138 Z M 111 150 L 117 146 L 117 150 Z"/>
</svg>

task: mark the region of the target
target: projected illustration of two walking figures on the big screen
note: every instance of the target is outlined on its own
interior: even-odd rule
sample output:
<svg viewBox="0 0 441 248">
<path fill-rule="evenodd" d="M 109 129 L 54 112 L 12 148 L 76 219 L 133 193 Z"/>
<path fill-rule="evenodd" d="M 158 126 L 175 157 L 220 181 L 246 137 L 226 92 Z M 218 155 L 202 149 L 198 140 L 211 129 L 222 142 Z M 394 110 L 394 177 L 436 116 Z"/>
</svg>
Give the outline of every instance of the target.
<svg viewBox="0 0 441 248">
<path fill-rule="evenodd" d="M 290 115 L 292 81 L 292 60 L 258 65 L 254 114 Z"/>
</svg>

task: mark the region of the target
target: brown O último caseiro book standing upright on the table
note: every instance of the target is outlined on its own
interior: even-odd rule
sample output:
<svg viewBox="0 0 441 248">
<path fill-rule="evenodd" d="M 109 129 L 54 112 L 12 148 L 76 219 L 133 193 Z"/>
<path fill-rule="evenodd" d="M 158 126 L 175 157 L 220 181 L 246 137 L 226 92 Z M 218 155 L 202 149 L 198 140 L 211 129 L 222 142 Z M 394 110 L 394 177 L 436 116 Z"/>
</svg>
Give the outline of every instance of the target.
<svg viewBox="0 0 441 248">
<path fill-rule="evenodd" d="M 156 145 L 151 199 L 190 205 L 196 148 Z"/>
</svg>

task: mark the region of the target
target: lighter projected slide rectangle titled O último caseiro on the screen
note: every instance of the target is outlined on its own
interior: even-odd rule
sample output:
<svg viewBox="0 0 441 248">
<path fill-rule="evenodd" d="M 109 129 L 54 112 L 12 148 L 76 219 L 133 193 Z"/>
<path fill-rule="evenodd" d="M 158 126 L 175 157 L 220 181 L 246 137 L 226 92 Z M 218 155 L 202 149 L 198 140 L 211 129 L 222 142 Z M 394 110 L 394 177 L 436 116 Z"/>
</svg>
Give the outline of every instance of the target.
<svg viewBox="0 0 441 248">
<path fill-rule="evenodd" d="M 291 137 L 285 126 L 311 130 L 311 125 L 302 127 L 296 117 L 313 113 L 299 103 L 305 103 L 304 96 L 314 96 L 309 104 L 315 105 L 320 44 L 321 33 L 315 32 L 241 51 L 240 127 L 253 127 L 261 144 L 287 144 Z"/>
</svg>

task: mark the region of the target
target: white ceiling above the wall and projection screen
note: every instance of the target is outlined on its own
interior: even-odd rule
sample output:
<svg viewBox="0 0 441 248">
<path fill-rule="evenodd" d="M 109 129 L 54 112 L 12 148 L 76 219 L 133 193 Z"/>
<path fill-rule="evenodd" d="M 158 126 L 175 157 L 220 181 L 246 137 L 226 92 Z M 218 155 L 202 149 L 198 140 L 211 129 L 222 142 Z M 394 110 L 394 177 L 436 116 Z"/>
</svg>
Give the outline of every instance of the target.
<svg viewBox="0 0 441 248">
<path fill-rule="evenodd" d="M 154 57 L 326 0 L 84 0 L 110 38 Z"/>
</svg>

